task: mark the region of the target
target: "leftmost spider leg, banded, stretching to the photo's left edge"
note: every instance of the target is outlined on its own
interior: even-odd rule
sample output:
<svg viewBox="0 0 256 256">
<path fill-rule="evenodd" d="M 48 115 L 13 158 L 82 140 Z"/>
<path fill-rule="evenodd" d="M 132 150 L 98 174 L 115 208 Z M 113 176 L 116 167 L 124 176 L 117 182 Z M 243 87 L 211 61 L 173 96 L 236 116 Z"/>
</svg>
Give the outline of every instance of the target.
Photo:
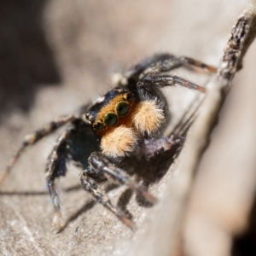
<svg viewBox="0 0 256 256">
<path fill-rule="evenodd" d="M 55 119 L 54 121 L 50 122 L 48 125 L 44 125 L 38 131 L 34 131 L 31 134 L 26 135 L 26 137 L 24 138 L 23 142 L 20 145 L 20 148 L 18 148 L 15 155 L 11 158 L 9 162 L 9 166 L 7 166 L 5 171 L 0 176 L 0 186 L 3 183 L 3 180 L 5 179 L 5 177 L 8 176 L 9 172 L 15 166 L 15 163 L 19 159 L 20 154 L 22 154 L 22 152 L 27 146 L 37 143 L 40 139 L 49 135 L 50 133 L 52 133 L 62 125 L 66 125 L 68 122 L 72 121 L 73 119 L 74 119 L 73 115 L 66 115 L 66 116 L 59 117 L 58 119 Z"/>
</svg>

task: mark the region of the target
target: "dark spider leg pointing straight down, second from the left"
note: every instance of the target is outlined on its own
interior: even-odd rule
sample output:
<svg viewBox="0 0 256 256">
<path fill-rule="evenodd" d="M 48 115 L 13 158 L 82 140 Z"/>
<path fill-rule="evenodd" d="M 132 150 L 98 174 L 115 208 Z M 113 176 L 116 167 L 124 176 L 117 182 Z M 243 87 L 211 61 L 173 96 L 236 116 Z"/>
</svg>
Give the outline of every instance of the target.
<svg viewBox="0 0 256 256">
<path fill-rule="evenodd" d="M 69 131 L 65 131 L 55 143 L 55 147 L 52 153 L 49 155 L 49 162 L 45 173 L 50 199 L 53 203 L 55 211 L 53 224 L 57 230 L 61 230 L 61 206 L 58 192 L 55 189 L 55 178 L 65 176 L 67 172 L 66 162 L 68 132 Z"/>
</svg>

